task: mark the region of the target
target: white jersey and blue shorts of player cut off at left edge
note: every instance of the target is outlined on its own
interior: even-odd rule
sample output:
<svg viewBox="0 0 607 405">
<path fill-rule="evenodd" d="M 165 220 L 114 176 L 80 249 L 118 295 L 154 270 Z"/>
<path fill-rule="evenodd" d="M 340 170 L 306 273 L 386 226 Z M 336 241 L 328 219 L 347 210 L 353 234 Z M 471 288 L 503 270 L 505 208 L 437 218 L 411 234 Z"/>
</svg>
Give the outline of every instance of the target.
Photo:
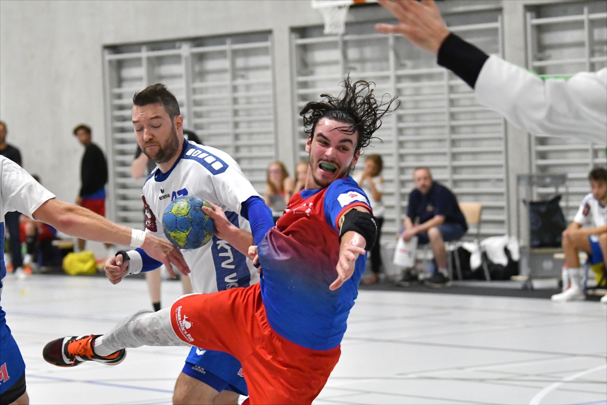
<svg viewBox="0 0 607 405">
<path fill-rule="evenodd" d="M 6 276 L 4 214 L 19 211 L 33 219 L 34 211 L 53 198 L 55 196 L 52 192 L 42 187 L 24 169 L 0 155 L 0 296 L 2 279 Z M 0 395 L 12 387 L 25 372 L 25 363 L 6 324 L 5 315 L 0 305 Z"/>
</svg>

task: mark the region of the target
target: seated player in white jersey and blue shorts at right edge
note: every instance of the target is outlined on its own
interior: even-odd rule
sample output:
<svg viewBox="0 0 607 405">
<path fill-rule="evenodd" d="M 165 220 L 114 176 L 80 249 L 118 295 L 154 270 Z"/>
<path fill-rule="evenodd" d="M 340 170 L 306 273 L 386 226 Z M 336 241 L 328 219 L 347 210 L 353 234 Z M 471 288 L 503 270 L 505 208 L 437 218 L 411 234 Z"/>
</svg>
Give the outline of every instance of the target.
<svg viewBox="0 0 607 405">
<path fill-rule="evenodd" d="M 582 200 L 571 225 L 563 232 L 563 252 L 567 268 L 563 269 L 563 285 L 570 284 L 554 301 L 586 299 L 582 288 L 584 269 L 580 268 L 578 250 L 588 253 L 591 265 L 603 262 L 607 265 L 607 172 L 595 168 L 588 174 L 592 192 Z M 607 302 L 603 296 L 602 302 Z"/>
</svg>

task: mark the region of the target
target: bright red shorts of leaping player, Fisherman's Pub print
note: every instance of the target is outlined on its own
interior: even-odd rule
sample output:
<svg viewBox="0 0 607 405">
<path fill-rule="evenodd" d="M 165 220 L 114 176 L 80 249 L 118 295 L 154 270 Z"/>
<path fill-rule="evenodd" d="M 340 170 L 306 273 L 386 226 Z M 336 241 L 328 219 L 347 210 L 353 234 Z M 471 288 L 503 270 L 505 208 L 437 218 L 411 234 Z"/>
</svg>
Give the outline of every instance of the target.
<svg viewBox="0 0 607 405">
<path fill-rule="evenodd" d="M 259 283 L 180 298 L 171 324 L 184 342 L 239 359 L 251 404 L 312 403 L 341 354 L 339 346 L 307 349 L 274 332 Z"/>
</svg>

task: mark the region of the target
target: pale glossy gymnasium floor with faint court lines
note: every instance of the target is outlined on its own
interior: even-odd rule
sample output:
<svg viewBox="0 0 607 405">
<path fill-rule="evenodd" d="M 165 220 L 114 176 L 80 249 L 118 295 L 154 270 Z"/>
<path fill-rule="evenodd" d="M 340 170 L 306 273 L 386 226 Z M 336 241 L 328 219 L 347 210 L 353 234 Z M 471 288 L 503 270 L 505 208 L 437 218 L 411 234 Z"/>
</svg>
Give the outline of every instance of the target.
<svg viewBox="0 0 607 405">
<path fill-rule="evenodd" d="M 178 294 L 164 282 L 164 305 Z M 116 367 L 63 369 L 41 356 L 53 338 L 104 333 L 148 306 L 142 280 L 5 277 L 31 403 L 170 404 L 186 348 L 129 349 Z M 599 302 L 361 291 L 315 404 L 605 404 L 606 313 Z"/>
</svg>

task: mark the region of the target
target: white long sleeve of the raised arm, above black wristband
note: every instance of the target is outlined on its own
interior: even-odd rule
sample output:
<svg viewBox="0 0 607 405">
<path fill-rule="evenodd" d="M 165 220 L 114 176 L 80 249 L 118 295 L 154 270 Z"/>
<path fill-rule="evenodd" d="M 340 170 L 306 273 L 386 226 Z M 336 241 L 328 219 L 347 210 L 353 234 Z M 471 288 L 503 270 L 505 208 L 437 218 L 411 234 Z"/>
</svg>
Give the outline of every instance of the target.
<svg viewBox="0 0 607 405">
<path fill-rule="evenodd" d="M 540 77 L 492 55 L 474 91 L 478 103 L 532 134 L 607 145 L 607 68 Z"/>
</svg>

